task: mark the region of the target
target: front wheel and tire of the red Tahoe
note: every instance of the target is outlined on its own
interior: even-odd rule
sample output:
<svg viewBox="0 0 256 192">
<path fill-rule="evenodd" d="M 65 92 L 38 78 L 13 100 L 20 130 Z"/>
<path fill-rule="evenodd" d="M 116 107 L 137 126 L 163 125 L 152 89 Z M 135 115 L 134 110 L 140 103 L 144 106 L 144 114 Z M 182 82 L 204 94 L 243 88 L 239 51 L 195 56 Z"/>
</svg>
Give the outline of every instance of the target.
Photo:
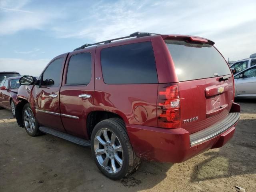
<svg viewBox="0 0 256 192">
<path fill-rule="evenodd" d="M 22 120 L 28 135 L 35 137 L 42 134 L 39 130 L 38 122 L 33 114 L 30 104 L 26 103 L 22 110 Z"/>
</svg>

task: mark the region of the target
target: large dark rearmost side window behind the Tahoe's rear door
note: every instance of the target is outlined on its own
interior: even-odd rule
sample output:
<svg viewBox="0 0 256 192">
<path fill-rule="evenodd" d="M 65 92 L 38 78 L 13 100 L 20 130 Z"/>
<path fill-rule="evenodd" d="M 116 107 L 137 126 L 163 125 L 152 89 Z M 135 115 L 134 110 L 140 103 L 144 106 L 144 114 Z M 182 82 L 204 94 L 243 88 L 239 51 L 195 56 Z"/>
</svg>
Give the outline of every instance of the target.
<svg viewBox="0 0 256 192">
<path fill-rule="evenodd" d="M 106 84 L 158 83 L 151 42 L 104 48 L 101 65 Z"/>
</svg>

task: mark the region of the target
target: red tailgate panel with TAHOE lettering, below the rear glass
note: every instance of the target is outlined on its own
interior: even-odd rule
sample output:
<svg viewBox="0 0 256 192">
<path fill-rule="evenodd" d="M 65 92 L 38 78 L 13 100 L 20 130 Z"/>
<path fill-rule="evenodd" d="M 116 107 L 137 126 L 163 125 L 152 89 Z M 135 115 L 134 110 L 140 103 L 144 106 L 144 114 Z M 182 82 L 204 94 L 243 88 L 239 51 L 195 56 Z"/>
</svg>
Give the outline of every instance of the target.
<svg viewBox="0 0 256 192">
<path fill-rule="evenodd" d="M 192 80 L 179 83 L 180 91 L 180 106 L 181 106 L 181 120 L 186 120 L 198 116 L 198 120 L 188 124 L 181 124 L 181 127 L 191 133 L 202 130 L 219 120 L 224 119 L 232 106 L 233 102 L 233 79 L 229 78 L 225 82 L 219 82 L 218 77 Z M 211 97 L 206 97 L 205 90 L 212 86 L 227 86 L 228 91 L 222 94 L 212 94 Z M 219 100 L 214 104 L 215 100 Z M 223 110 L 217 111 L 220 106 L 227 105 Z M 216 112 L 217 111 L 217 112 Z M 214 113 L 212 116 L 207 116 L 208 113 Z"/>
</svg>

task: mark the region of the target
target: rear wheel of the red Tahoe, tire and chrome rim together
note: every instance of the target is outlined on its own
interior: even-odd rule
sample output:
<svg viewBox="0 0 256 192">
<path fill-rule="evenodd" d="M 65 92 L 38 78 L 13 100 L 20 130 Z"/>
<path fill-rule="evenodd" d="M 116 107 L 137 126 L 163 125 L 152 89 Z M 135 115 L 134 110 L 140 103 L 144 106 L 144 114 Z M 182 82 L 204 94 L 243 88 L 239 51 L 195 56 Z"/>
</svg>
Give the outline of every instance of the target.
<svg viewBox="0 0 256 192">
<path fill-rule="evenodd" d="M 118 180 L 135 172 L 140 165 L 126 133 L 124 122 L 110 118 L 92 130 L 92 156 L 99 170 L 108 178 Z"/>
</svg>

